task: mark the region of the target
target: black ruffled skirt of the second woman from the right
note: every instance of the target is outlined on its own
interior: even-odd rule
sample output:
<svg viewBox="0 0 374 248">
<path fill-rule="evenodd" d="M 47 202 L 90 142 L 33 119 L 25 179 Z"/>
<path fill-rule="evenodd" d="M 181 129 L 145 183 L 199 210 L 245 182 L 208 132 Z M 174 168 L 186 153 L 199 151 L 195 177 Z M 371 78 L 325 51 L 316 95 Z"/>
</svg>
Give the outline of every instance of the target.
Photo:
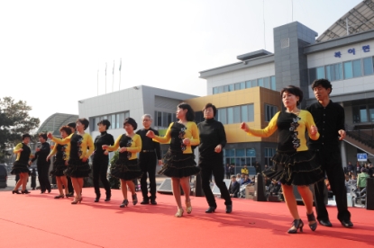
<svg viewBox="0 0 374 248">
<path fill-rule="evenodd" d="M 163 166 L 159 174 L 182 178 L 199 172 L 200 168 L 196 166 L 194 154 L 183 154 L 169 150 L 163 158 Z"/>
</svg>

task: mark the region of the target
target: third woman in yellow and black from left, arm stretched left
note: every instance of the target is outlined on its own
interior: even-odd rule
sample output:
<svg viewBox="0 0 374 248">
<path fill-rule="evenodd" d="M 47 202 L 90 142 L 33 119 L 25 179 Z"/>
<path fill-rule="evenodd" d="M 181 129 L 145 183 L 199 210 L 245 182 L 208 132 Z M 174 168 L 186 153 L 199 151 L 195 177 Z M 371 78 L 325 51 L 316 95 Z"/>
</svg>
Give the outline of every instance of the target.
<svg viewBox="0 0 374 248">
<path fill-rule="evenodd" d="M 71 178 L 73 188 L 76 191 L 76 198 L 71 204 L 77 204 L 82 201 L 83 178 L 88 177 L 91 171 L 88 158 L 95 149 L 92 137 L 85 133 L 89 121 L 86 118 L 81 118 L 78 119 L 76 123 L 77 132 L 72 133 L 66 138 L 60 139 L 53 137 L 51 133 L 48 134 L 48 137 L 59 145 L 70 144 L 68 168 L 64 173 Z"/>
</svg>

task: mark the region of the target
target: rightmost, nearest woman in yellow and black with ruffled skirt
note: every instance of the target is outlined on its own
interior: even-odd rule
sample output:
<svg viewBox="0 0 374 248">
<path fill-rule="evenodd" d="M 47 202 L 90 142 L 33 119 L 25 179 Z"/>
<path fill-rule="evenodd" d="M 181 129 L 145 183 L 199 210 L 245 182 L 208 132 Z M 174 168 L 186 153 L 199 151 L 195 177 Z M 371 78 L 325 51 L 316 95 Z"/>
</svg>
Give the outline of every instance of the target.
<svg viewBox="0 0 374 248">
<path fill-rule="evenodd" d="M 309 227 L 315 231 L 317 223 L 313 212 L 313 193 L 308 185 L 323 180 L 324 175 L 320 166 L 315 163 L 315 154 L 308 151 L 306 131 L 313 140 L 318 139 L 319 133 L 312 114 L 297 108 L 303 100 L 303 92 L 300 88 L 289 85 L 281 90 L 280 96 L 286 111 L 276 113 L 268 127 L 253 129 L 242 122 L 241 128 L 249 135 L 257 137 L 269 137 L 278 129 L 277 153 L 271 159 L 274 165 L 263 173 L 268 178 L 282 183 L 287 208 L 294 217 L 288 234 L 296 234 L 297 229 L 303 231 L 304 226 L 297 212 L 293 185 L 297 186 L 306 205 Z"/>
</svg>

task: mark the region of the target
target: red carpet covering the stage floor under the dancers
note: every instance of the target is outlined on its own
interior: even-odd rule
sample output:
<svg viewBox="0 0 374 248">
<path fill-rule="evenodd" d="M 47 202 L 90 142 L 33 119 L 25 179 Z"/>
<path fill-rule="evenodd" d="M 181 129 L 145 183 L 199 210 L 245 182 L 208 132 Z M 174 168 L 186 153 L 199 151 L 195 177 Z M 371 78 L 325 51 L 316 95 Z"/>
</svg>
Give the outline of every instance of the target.
<svg viewBox="0 0 374 248">
<path fill-rule="evenodd" d="M 92 188 L 83 190 L 81 204 L 53 199 L 57 190 L 12 195 L 1 191 L 0 247 L 368 247 L 374 246 L 374 211 L 350 208 L 354 227 L 344 228 L 329 207 L 333 228 L 288 235 L 292 218 L 286 204 L 233 199 L 233 213 L 205 214 L 205 198 L 192 197 L 193 212 L 177 218 L 174 197 L 158 195 L 157 206 L 119 208 L 120 190 L 110 202 L 94 203 Z M 138 193 L 141 199 L 141 193 Z M 182 198 L 183 199 L 183 198 Z M 184 199 L 183 199 L 184 201 Z M 299 206 L 306 224 L 306 209 Z"/>
</svg>

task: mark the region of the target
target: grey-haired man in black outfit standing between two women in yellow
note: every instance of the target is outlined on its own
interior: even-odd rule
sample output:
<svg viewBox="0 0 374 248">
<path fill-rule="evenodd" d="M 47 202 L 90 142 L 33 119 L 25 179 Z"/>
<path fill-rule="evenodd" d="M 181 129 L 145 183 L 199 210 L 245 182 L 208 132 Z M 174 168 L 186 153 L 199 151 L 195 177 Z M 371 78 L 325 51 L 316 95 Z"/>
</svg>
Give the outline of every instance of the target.
<svg viewBox="0 0 374 248">
<path fill-rule="evenodd" d="M 161 165 L 161 152 L 160 143 L 152 141 L 151 137 L 147 137 L 146 134 L 149 130 L 153 131 L 155 135 L 159 135 L 159 131 L 151 128 L 152 117 L 151 114 L 144 114 L 141 117 L 143 127 L 138 130 L 136 134 L 141 136 L 141 153 L 139 160 L 141 164 L 141 194 L 143 200 L 141 204 L 157 205 L 156 202 L 156 164 Z M 147 173 L 150 179 L 150 192 L 151 197 L 148 196 L 148 184 L 147 184 Z"/>
</svg>

